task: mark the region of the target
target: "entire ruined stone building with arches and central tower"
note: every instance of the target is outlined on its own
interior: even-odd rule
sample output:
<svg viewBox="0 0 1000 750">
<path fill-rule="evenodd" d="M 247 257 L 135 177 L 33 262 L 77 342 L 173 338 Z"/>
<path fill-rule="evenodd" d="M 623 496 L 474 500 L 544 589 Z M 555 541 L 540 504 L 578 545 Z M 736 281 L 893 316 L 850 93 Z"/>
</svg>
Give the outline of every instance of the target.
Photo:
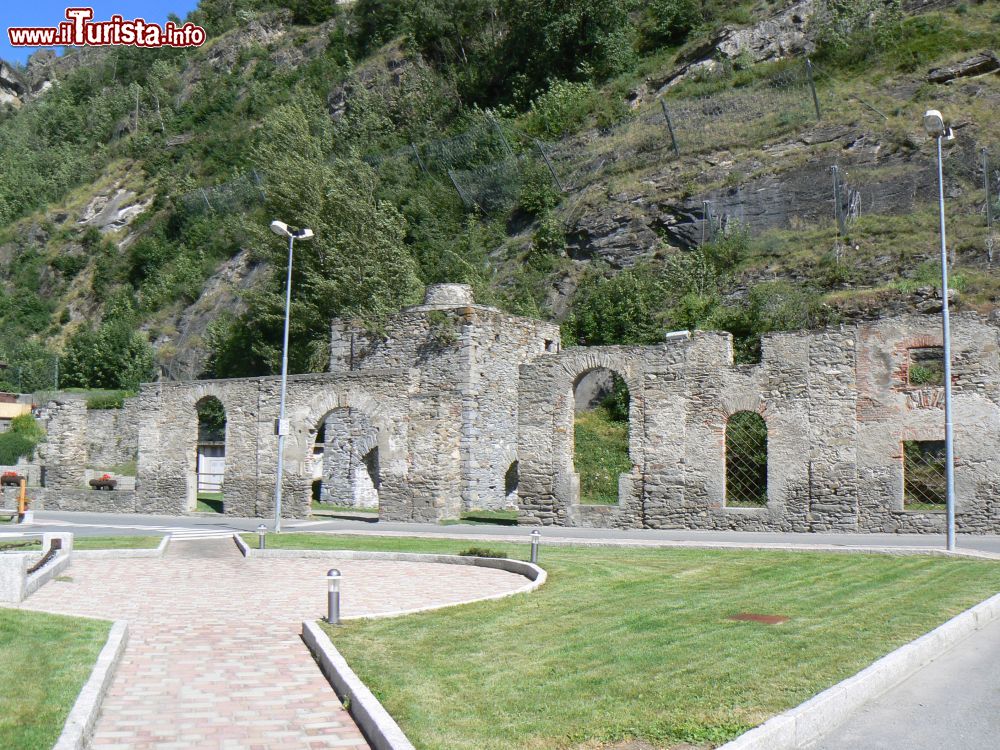
<svg viewBox="0 0 1000 750">
<path fill-rule="evenodd" d="M 1000 533 L 998 331 L 996 320 L 953 318 L 956 515 L 967 533 Z M 290 378 L 284 512 L 309 512 L 325 423 L 325 499 L 361 502 L 377 486 L 387 520 L 506 507 L 505 478 L 517 476 L 523 523 L 942 531 L 942 513 L 903 509 L 902 456 L 905 440 L 943 439 L 943 388 L 907 377 L 910 350 L 940 338 L 937 316 L 915 315 L 770 335 L 752 366 L 734 365 L 731 338 L 713 332 L 561 350 L 556 326 L 477 305 L 466 286 L 433 286 L 377 334 L 333 321 L 330 371 Z M 573 467 L 574 386 L 598 368 L 621 375 L 631 395 L 632 468 L 612 506 L 581 505 Z M 273 377 L 143 386 L 135 493 L 80 489 L 80 462 L 100 446 L 88 442 L 82 405 L 54 405 L 46 506 L 94 509 L 99 498 L 109 510 L 189 512 L 196 404 L 215 396 L 226 410 L 224 511 L 269 516 L 279 386 Z M 741 411 L 767 427 L 764 507 L 726 506 L 726 422 Z"/>
</svg>

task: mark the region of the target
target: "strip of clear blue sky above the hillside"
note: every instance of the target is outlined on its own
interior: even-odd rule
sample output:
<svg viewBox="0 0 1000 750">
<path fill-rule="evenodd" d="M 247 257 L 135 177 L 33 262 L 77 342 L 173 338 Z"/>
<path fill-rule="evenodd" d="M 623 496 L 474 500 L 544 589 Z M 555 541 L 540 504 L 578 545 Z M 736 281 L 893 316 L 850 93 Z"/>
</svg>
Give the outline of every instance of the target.
<svg viewBox="0 0 1000 750">
<path fill-rule="evenodd" d="M 124 18 L 144 18 L 150 22 L 163 23 L 168 13 L 176 13 L 184 18 L 198 5 L 197 0 L 13 0 L 5 2 L 0 13 L 0 59 L 10 62 L 24 62 L 34 52 L 29 47 L 11 47 L 7 38 L 10 26 L 56 26 L 66 20 L 66 8 L 93 8 L 95 21 L 107 21 L 112 15 Z"/>
</svg>

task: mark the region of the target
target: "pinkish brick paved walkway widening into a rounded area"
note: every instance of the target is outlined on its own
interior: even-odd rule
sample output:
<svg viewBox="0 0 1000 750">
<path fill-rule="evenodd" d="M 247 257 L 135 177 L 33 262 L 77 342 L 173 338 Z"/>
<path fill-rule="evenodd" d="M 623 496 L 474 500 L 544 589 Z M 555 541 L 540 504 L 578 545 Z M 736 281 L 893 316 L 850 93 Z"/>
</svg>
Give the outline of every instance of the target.
<svg viewBox="0 0 1000 750">
<path fill-rule="evenodd" d="M 487 568 L 374 560 L 244 560 L 232 542 L 160 559 L 77 559 L 23 606 L 129 621 L 92 747 L 366 748 L 299 638 L 325 614 L 327 568 L 345 615 L 457 603 L 519 588 Z"/>
</svg>

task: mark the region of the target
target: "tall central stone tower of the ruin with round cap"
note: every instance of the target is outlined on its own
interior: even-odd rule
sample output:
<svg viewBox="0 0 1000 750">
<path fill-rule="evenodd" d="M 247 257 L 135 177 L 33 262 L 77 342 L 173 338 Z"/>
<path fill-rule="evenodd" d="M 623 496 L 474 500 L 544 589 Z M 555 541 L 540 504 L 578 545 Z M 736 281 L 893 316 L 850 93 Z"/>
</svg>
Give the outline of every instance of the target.
<svg viewBox="0 0 1000 750">
<path fill-rule="evenodd" d="M 456 461 L 447 481 L 461 486 L 448 517 L 509 507 L 504 480 L 517 461 L 518 368 L 558 351 L 559 327 L 476 305 L 467 285 L 439 284 L 378 335 L 343 320 L 331 328 L 331 372 L 420 371 L 415 414 L 441 422 L 442 441 Z"/>
</svg>

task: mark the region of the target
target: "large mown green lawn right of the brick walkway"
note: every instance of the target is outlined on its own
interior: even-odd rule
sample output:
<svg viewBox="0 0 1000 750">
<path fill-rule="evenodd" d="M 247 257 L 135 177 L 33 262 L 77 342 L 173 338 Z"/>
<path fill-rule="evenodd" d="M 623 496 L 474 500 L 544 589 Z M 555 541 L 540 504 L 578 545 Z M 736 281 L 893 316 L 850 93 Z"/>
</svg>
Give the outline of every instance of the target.
<svg viewBox="0 0 1000 750">
<path fill-rule="evenodd" d="M 471 544 L 319 534 L 268 543 Z M 596 750 L 630 738 L 711 747 L 1000 591 L 996 563 L 919 556 L 543 546 L 541 564 L 550 577 L 534 593 L 350 622 L 333 640 L 428 750 Z M 791 619 L 727 619 L 740 612 Z"/>
</svg>

